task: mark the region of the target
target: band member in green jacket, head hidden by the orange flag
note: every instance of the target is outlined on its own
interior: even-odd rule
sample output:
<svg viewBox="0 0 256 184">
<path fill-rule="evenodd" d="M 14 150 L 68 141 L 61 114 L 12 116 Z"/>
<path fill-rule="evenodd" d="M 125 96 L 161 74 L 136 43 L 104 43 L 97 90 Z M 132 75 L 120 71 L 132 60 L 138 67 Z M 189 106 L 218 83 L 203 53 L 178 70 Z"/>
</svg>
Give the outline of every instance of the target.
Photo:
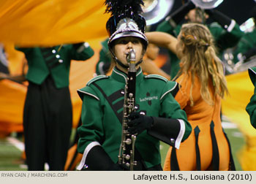
<svg viewBox="0 0 256 184">
<path fill-rule="evenodd" d="M 29 64 L 23 112 L 26 164 L 29 170 L 64 170 L 72 129 L 70 61 L 94 55 L 87 42 L 54 47 L 18 47 Z"/>
</svg>

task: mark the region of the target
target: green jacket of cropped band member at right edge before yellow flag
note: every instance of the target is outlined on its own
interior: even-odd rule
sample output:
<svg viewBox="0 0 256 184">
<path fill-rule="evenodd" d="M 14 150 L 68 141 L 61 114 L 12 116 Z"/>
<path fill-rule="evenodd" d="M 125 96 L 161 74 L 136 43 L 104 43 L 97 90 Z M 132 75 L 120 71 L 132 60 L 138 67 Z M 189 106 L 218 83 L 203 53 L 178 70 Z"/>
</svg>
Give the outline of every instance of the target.
<svg viewBox="0 0 256 184">
<path fill-rule="evenodd" d="M 249 77 L 252 80 L 252 84 L 256 86 L 256 67 L 252 67 L 251 69 L 248 69 Z M 249 101 L 249 104 L 246 106 L 246 111 L 249 114 L 252 126 L 256 129 L 256 88 L 255 93 L 252 95 L 251 100 Z"/>
</svg>

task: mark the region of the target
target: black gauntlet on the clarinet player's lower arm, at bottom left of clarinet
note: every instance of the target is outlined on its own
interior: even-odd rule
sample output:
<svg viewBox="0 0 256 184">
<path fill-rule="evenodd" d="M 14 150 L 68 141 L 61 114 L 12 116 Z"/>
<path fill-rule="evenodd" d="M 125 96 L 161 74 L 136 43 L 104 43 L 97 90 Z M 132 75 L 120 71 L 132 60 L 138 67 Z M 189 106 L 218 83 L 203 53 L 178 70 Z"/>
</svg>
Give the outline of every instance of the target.
<svg viewBox="0 0 256 184">
<path fill-rule="evenodd" d="M 86 157 L 86 166 L 83 170 L 89 171 L 124 171 L 129 170 L 125 165 L 113 163 L 105 150 L 97 145 L 91 148 Z"/>
</svg>

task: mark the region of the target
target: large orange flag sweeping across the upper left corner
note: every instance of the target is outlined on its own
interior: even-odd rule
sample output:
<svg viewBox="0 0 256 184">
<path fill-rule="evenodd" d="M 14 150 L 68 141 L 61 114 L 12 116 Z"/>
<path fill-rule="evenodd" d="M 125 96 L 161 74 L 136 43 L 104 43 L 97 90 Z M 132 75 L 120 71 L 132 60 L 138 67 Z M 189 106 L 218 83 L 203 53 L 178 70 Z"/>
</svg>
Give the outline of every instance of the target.
<svg viewBox="0 0 256 184">
<path fill-rule="evenodd" d="M 104 0 L 0 0 L 0 42 L 50 46 L 107 36 Z"/>
</svg>

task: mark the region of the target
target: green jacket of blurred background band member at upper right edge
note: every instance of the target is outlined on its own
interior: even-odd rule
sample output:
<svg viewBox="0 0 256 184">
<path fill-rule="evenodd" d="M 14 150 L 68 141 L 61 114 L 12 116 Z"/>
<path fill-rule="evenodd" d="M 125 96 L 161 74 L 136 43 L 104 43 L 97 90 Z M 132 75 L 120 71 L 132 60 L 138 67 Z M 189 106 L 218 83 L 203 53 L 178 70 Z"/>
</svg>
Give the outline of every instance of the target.
<svg viewBox="0 0 256 184">
<path fill-rule="evenodd" d="M 236 47 L 236 50 L 234 51 L 234 62 L 237 63 L 241 60 L 241 58 L 238 58 L 239 53 L 246 53 L 246 51 L 252 49 L 253 47 L 256 47 L 256 29 L 254 28 L 252 32 L 247 32 L 244 34 L 244 36 L 240 39 L 238 42 L 238 45 Z"/>
</svg>

